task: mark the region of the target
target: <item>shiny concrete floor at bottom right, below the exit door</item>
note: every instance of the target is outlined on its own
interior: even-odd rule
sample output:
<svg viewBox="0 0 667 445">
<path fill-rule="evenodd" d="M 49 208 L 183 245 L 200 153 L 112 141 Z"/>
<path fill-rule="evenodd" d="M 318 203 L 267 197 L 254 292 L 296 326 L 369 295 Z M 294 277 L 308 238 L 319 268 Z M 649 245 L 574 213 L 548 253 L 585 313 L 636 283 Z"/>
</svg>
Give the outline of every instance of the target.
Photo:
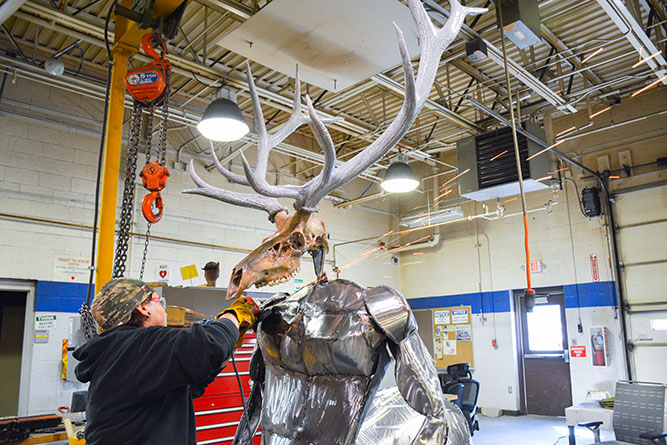
<svg viewBox="0 0 667 445">
<path fill-rule="evenodd" d="M 568 445 L 568 429 L 564 417 L 501 416 L 479 417 L 473 445 Z M 577 445 L 593 443 L 593 433 L 575 428 Z M 601 430 L 602 440 L 614 440 L 614 433 Z"/>
</svg>

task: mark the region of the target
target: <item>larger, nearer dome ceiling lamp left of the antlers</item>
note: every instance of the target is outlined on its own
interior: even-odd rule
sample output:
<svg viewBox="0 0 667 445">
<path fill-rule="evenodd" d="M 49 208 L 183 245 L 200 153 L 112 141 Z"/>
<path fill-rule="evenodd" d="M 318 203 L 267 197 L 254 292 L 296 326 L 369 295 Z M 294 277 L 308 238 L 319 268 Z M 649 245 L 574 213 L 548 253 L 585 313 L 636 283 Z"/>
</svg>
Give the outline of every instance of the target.
<svg viewBox="0 0 667 445">
<path fill-rule="evenodd" d="M 197 130 L 212 141 L 237 141 L 245 136 L 250 129 L 236 105 L 236 93 L 221 88 L 216 99 L 206 107 Z"/>
</svg>

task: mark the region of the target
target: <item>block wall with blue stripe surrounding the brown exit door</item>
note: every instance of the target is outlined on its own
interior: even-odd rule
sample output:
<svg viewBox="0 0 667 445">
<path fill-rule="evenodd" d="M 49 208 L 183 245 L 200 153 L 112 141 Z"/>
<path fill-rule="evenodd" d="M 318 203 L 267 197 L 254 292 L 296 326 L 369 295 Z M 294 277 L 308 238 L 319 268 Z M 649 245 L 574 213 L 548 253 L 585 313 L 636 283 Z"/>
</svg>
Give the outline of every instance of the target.
<svg viewBox="0 0 667 445">
<path fill-rule="evenodd" d="M 586 345 L 590 350 L 588 328 L 607 326 L 614 337 L 612 366 L 592 370 L 590 351 L 586 359 L 572 359 L 570 366 L 573 403 L 583 401 L 591 389 L 613 393 L 614 382 L 624 376 L 621 354 L 620 327 L 612 309 L 615 293 L 611 280 L 607 241 L 599 219 L 585 218 L 568 191 L 570 215 L 564 191 L 534 192 L 527 196 L 529 209 L 545 209 L 529 216 L 531 260 L 546 265 L 541 273 L 532 274 L 535 288 L 565 286 L 566 322 L 570 345 Z M 507 213 L 520 211 L 517 201 L 506 204 Z M 464 214 L 482 213 L 479 204 L 465 204 Z M 572 221 L 573 241 L 570 242 L 569 220 Z M 477 230 L 477 234 L 475 233 Z M 525 289 L 523 222 L 518 216 L 495 221 L 478 220 L 445 225 L 441 228 L 443 241 L 418 256 L 421 264 L 402 266 L 401 277 L 405 295 L 413 308 L 434 308 L 472 304 L 484 308 L 473 316 L 473 355 L 475 378 L 480 381 L 480 406 L 510 411 L 519 409 L 519 367 L 516 359 L 515 312 L 510 304 L 513 289 Z M 479 237 L 479 238 L 478 238 Z M 488 238 L 487 238 L 488 237 Z M 416 258 L 414 252 L 403 253 Z M 478 255 L 479 254 L 479 255 Z M 598 256 L 600 283 L 591 283 L 589 255 Z M 574 256 L 574 264 L 573 264 Z M 576 271 L 576 278 L 575 278 Z M 595 296 L 584 296 L 577 302 L 577 288 L 593 286 Z M 589 283 L 589 284 L 586 284 Z M 481 294 L 480 294 L 481 291 Z M 481 297 L 480 297 L 481 295 Z M 491 298 L 493 295 L 493 298 Z M 569 295 L 569 297 L 568 297 Z M 577 308 L 577 305 L 581 308 Z M 579 317 L 584 334 L 577 333 Z M 496 338 L 498 348 L 492 347 Z M 509 393 L 508 387 L 512 387 Z"/>
</svg>

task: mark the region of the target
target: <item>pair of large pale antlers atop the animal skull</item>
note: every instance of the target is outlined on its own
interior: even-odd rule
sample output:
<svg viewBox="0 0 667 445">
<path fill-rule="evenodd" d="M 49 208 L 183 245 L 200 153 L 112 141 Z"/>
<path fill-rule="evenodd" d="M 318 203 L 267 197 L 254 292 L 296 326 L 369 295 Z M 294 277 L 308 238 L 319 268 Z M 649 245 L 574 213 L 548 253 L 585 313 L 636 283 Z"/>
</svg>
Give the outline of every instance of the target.
<svg viewBox="0 0 667 445">
<path fill-rule="evenodd" d="M 433 86 L 440 56 L 458 34 L 461 25 L 463 24 L 463 20 L 467 15 L 482 14 L 487 11 L 486 8 L 469 8 L 462 6 L 458 0 L 450 0 L 450 5 L 451 13 L 449 19 L 442 28 L 438 29 L 429 19 L 428 14 L 419 0 L 408 0 L 408 6 L 412 17 L 416 22 L 419 41 L 422 47 L 416 80 L 412 71 L 412 63 L 410 62 L 410 55 L 408 54 L 403 33 L 394 23 L 405 75 L 405 101 L 392 123 L 378 139 L 355 157 L 338 167 L 336 167 L 336 151 L 334 143 L 331 139 L 331 135 L 325 127 L 325 123 L 330 123 L 331 121 L 323 122 L 317 116 L 310 97 L 308 96 L 306 96 L 308 116 L 303 115 L 301 112 L 298 67 L 294 86 L 294 104 L 292 113 L 281 128 L 274 133 L 269 133 L 264 124 L 264 115 L 262 113 L 259 97 L 257 96 L 252 73 L 250 72 L 250 64 L 246 63 L 248 87 L 254 110 L 255 133 L 258 137 L 257 164 L 253 170 L 243 153 L 241 153 L 245 171 L 245 177 L 243 177 L 225 169 L 220 164 L 215 152 L 213 152 L 213 150 L 211 151 L 213 152 L 215 166 L 223 176 L 231 182 L 251 186 L 262 196 L 258 197 L 243 193 L 226 192 L 211 187 L 196 175 L 192 168 L 192 163 L 190 164 L 190 175 L 200 188 L 186 190 L 185 192 L 210 196 L 221 201 L 246 207 L 261 208 L 269 212 L 270 218 L 273 218 L 275 213 L 280 211 L 276 209 L 279 208 L 284 210 L 284 207 L 280 206 L 280 204 L 272 198 L 291 198 L 295 200 L 294 207 L 297 210 L 315 212 L 317 210 L 317 204 L 326 195 L 359 176 L 364 170 L 380 160 L 401 140 L 401 138 L 403 138 L 424 106 L 424 102 L 426 102 L 431 87 Z M 301 186 L 269 184 L 266 181 L 269 152 L 303 124 L 313 125 L 317 140 L 324 150 L 324 166 L 322 171 L 315 178 Z M 253 197 L 253 199 L 251 199 L 251 197 Z M 274 213 L 272 214 L 271 212 Z"/>
</svg>

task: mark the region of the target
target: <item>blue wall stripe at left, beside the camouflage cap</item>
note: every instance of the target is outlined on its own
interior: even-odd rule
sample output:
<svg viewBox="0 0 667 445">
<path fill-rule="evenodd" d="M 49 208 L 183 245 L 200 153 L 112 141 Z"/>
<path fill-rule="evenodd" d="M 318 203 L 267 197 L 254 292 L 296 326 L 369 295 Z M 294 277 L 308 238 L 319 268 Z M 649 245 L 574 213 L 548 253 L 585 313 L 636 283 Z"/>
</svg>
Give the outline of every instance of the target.
<svg viewBox="0 0 667 445">
<path fill-rule="evenodd" d="M 38 281 L 35 291 L 35 311 L 78 312 L 86 302 L 88 284 L 61 281 Z M 91 290 L 91 295 L 95 289 Z M 91 298 L 92 301 L 92 298 Z"/>
</svg>

